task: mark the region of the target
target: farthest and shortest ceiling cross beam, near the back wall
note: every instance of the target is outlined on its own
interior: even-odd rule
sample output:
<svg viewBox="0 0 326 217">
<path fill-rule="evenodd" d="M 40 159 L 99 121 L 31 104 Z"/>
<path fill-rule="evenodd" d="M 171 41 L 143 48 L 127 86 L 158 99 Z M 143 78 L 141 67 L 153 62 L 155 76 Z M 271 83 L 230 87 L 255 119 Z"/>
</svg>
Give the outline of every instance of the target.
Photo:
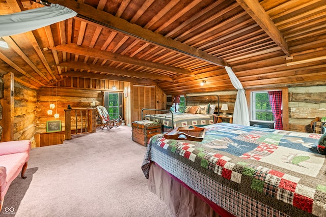
<svg viewBox="0 0 326 217">
<path fill-rule="evenodd" d="M 148 79 L 143 80 L 143 79 L 135 79 L 135 78 L 125 78 L 120 76 L 95 74 L 95 73 L 87 73 L 87 72 L 67 71 L 67 72 L 63 72 L 62 75 L 72 76 L 77 78 L 93 78 L 93 79 L 95 78 L 95 79 L 102 79 L 102 80 L 128 81 L 128 82 L 145 83 L 145 84 L 153 84 L 153 85 L 156 84 L 152 80 L 148 80 Z"/>
</svg>

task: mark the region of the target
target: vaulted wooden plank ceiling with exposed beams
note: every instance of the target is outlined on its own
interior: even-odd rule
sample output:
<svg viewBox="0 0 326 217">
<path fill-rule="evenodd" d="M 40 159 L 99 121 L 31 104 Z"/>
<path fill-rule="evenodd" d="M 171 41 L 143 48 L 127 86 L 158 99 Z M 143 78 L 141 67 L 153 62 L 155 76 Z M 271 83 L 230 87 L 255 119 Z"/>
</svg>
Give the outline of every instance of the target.
<svg viewBox="0 0 326 217">
<path fill-rule="evenodd" d="M 224 66 L 244 88 L 326 84 L 324 0 L 48 2 L 78 14 L 0 48 L 0 73 L 35 89 L 71 77 L 156 83 L 166 94 L 234 89 Z M 2 0 L 0 15 L 38 7 Z"/>
</svg>

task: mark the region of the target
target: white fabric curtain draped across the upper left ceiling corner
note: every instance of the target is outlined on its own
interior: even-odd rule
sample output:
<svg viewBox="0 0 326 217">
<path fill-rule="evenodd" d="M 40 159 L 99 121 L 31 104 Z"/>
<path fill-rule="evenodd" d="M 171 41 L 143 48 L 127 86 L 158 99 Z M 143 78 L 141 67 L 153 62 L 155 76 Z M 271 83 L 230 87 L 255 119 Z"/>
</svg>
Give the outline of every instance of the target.
<svg viewBox="0 0 326 217">
<path fill-rule="evenodd" d="M 76 16 L 77 13 L 58 4 L 0 16 L 0 37 L 29 32 Z"/>
</svg>

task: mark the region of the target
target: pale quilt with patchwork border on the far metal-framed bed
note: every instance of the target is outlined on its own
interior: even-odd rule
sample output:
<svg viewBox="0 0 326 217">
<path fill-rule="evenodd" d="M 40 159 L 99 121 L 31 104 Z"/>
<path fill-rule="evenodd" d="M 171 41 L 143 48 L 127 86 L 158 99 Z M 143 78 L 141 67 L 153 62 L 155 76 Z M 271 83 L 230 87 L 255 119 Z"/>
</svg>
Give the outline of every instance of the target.
<svg viewBox="0 0 326 217">
<path fill-rule="evenodd" d="M 146 115 L 146 120 L 152 120 L 161 123 L 167 129 L 186 126 L 206 126 L 217 122 L 215 114 L 188 114 L 174 113 L 173 118 L 171 113 L 167 114 L 152 114 Z"/>
</svg>

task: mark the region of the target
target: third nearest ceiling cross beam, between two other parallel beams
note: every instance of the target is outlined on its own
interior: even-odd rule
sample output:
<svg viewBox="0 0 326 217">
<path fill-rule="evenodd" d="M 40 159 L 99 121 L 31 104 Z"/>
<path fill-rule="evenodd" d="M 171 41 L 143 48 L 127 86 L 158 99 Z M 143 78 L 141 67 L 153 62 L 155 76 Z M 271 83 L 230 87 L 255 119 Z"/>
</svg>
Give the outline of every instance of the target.
<svg viewBox="0 0 326 217">
<path fill-rule="evenodd" d="M 88 71 L 95 71 L 95 72 L 105 72 L 105 73 L 112 73 L 112 74 L 119 74 L 119 75 L 127 75 L 127 76 L 133 76 L 133 77 L 142 77 L 142 78 L 172 81 L 171 77 L 165 76 L 165 75 L 148 74 L 148 73 L 144 73 L 144 72 L 135 72 L 135 71 L 117 69 L 117 68 L 112 68 L 112 67 L 80 63 L 80 62 L 75 62 L 75 61 L 68 61 L 65 63 L 61 63 L 58 66 L 72 68 L 72 69 L 80 69 L 80 70 L 88 70 Z"/>
</svg>

